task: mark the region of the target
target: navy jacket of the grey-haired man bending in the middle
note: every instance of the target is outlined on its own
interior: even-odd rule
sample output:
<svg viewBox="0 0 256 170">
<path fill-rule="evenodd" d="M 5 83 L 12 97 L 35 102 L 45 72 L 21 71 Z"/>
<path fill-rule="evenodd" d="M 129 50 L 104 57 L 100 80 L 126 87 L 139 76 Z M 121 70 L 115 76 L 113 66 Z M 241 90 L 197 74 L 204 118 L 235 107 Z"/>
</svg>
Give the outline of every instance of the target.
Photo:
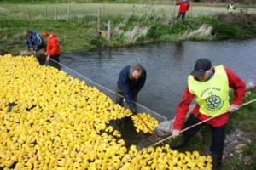
<svg viewBox="0 0 256 170">
<path fill-rule="evenodd" d="M 134 80 L 130 78 L 130 65 L 125 66 L 119 74 L 118 87 L 122 90 L 125 97 L 126 103 L 131 104 L 131 99 L 134 95 L 143 88 L 146 81 L 147 73 L 144 69 L 143 75 L 138 79 Z"/>
</svg>

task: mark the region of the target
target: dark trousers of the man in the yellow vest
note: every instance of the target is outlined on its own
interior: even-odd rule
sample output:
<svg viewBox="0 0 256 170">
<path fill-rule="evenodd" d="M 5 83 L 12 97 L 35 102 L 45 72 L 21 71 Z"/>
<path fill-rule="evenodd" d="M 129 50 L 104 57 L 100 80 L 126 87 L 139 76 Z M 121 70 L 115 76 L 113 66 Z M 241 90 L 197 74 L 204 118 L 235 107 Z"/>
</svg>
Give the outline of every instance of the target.
<svg viewBox="0 0 256 170">
<path fill-rule="evenodd" d="M 192 125 L 195 125 L 195 123 L 201 122 L 199 119 L 197 119 L 195 116 L 190 115 L 189 119 L 185 122 L 183 129 L 186 127 L 190 127 Z M 192 127 L 189 130 L 183 132 L 183 136 L 188 137 L 189 139 L 197 133 L 201 127 L 205 126 L 206 123 L 202 123 L 198 126 Z M 212 129 L 212 144 L 210 147 L 210 151 L 213 154 L 218 154 L 220 156 L 223 156 L 223 150 L 224 150 L 224 139 L 225 139 L 225 125 L 222 127 L 212 127 L 209 125 Z"/>
</svg>

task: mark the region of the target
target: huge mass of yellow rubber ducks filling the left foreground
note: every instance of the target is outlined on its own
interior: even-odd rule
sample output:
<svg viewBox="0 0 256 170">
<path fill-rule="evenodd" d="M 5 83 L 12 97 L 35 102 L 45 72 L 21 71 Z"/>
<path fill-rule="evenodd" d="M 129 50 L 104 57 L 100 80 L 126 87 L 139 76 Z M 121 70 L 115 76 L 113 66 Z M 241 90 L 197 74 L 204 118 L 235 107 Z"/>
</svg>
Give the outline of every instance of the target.
<svg viewBox="0 0 256 170">
<path fill-rule="evenodd" d="M 130 110 L 64 71 L 39 65 L 32 56 L 0 56 L 0 82 L 0 168 L 107 170 L 212 166 L 209 157 L 198 152 L 178 153 L 168 145 L 142 153 L 136 146 L 126 148 L 119 131 L 108 123 L 131 116 Z"/>
</svg>

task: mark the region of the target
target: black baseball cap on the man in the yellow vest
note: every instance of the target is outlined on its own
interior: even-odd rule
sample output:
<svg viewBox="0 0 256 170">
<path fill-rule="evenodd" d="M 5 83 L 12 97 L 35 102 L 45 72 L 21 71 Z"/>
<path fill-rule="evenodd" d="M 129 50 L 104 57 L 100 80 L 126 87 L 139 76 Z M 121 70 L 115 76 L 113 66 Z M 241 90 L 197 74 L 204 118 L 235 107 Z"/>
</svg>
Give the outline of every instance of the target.
<svg viewBox="0 0 256 170">
<path fill-rule="evenodd" d="M 202 77 L 205 74 L 205 72 L 211 68 L 212 63 L 209 59 L 197 59 L 195 62 L 194 71 L 191 72 L 191 75 L 194 77 Z"/>
</svg>

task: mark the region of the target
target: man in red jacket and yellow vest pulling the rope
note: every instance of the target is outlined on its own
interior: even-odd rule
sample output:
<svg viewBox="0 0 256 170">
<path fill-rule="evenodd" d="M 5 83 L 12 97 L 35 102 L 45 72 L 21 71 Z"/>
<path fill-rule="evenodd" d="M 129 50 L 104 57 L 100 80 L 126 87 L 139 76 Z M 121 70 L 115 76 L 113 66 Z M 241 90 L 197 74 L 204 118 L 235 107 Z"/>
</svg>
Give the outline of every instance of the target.
<svg viewBox="0 0 256 170">
<path fill-rule="evenodd" d="M 234 89 L 234 99 L 231 105 L 229 87 Z M 230 68 L 224 68 L 223 65 L 212 67 L 209 59 L 198 59 L 194 71 L 189 76 L 188 86 L 183 93 L 182 100 L 177 105 L 175 121 L 172 125 L 172 136 L 177 137 L 182 129 L 207 120 L 214 114 L 216 114 L 216 118 L 184 131 L 182 139 L 171 144 L 172 148 L 187 144 L 195 133 L 207 124 L 212 129 L 210 151 L 213 169 L 219 169 L 224 150 L 225 125 L 229 122 L 230 112 L 239 109 L 245 93 L 245 83 Z M 184 123 L 189 105 L 194 98 L 196 99 L 195 108 Z"/>
</svg>

